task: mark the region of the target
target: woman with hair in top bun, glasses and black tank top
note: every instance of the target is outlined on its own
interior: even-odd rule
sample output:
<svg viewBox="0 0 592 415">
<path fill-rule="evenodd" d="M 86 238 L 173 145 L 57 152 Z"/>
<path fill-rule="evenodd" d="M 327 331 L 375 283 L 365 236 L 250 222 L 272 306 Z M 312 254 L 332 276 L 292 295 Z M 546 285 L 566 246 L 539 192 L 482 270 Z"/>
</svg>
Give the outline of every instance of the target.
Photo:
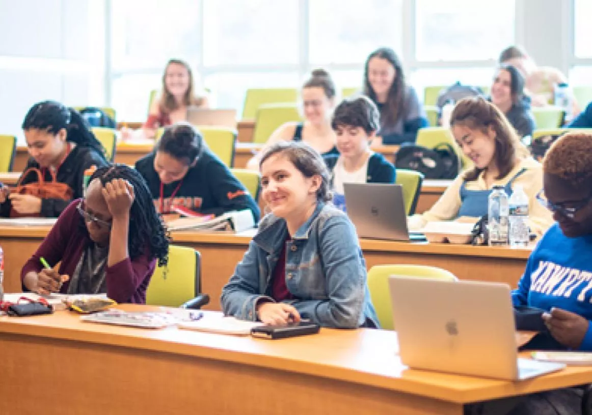
<svg viewBox="0 0 592 415">
<path fill-rule="evenodd" d="M 261 155 L 278 141 L 304 141 L 321 154 L 339 154 L 335 147 L 335 132 L 331 115 L 335 106 L 336 89 L 329 73 L 315 69 L 301 91 L 304 122 L 287 122 L 269 137 L 259 154 L 247 163 L 250 170 L 259 171 Z"/>
</svg>

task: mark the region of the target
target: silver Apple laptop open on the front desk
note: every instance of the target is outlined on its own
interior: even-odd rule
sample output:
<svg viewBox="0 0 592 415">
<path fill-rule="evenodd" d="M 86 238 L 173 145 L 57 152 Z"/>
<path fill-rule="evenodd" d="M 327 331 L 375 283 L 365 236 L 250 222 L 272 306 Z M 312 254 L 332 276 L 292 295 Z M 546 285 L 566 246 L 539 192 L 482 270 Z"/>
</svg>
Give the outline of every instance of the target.
<svg viewBox="0 0 592 415">
<path fill-rule="evenodd" d="M 410 368 L 523 380 L 565 367 L 518 358 L 507 284 L 404 277 L 388 282 L 401 361 Z"/>
</svg>

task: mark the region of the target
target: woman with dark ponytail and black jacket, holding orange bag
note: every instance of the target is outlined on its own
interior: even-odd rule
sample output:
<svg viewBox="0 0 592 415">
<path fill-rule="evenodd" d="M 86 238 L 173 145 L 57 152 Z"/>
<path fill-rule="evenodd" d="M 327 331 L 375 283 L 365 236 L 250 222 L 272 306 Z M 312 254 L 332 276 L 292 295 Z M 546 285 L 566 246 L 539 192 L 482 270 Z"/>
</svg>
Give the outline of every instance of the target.
<svg viewBox="0 0 592 415">
<path fill-rule="evenodd" d="M 84 171 L 91 166 L 107 166 L 104 148 L 96 140 L 88 123 L 72 108 L 56 101 L 33 105 L 22 129 L 31 157 L 25 171 L 38 168 L 45 181 L 56 180 L 72 189 L 73 199 L 83 196 Z M 51 170 L 51 171 L 50 171 Z M 31 171 L 21 177 L 21 184 L 35 183 L 38 176 Z M 57 218 L 71 200 L 41 199 L 30 194 L 0 192 L 0 216 L 8 217 L 13 209 L 18 215 Z"/>
</svg>

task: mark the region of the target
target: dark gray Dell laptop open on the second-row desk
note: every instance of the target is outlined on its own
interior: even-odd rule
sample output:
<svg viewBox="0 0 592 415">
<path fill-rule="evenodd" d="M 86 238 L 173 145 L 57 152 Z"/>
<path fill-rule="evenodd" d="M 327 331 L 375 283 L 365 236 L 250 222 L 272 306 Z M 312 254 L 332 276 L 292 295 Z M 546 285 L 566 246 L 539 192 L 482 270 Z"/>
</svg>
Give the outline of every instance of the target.
<svg viewBox="0 0 592 415">
<path fill-rule="evenodd" d="M 409 232 L 400 184 L 343 183 L 349 218 L 360 238 L 427 242 L 419 232 Z"/>
</svg>

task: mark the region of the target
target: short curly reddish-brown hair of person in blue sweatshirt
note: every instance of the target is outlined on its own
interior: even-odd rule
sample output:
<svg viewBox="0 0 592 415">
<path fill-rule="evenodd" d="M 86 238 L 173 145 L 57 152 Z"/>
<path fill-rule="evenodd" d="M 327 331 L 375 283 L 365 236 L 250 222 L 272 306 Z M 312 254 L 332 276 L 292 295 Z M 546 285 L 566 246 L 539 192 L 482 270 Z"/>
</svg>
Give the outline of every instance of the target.
<svg viewBox="0 0 592 415">
<path fill-rule="evenodd" d="M 559 137 L 549 147 L 543 169 L 575 186 L 587 183 L 592 179 L 592 134 L 574 131 Z"/>
</svg>

